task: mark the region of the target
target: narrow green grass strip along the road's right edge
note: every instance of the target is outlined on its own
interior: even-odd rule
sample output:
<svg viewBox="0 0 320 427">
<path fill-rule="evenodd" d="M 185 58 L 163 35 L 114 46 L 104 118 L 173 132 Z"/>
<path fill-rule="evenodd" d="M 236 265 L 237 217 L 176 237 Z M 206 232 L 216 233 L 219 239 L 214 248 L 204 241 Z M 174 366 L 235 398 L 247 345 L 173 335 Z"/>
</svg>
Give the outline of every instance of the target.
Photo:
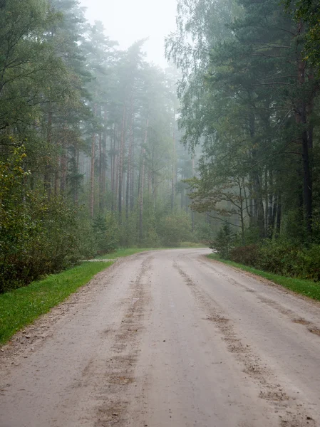
<svg viewBox="0 0 320 427">
<path fill-rule="evenodd" d="M 219 255 L 216 255 L 215 253 L 207 255 L 207 257 L 212 260 L 217 260 L 221 263 L 231 265 L 232 267 L 248 271 L 249 273 L 259 275 L 262 278 L 272 280 L 272 282 L 277 283 L 277 285 L 281 285 L 284 288 L 293 290 L 294 292 L 299 293 L 301 295 L 305 295 L 306 297 L 312 298 L 313 300 L 320 301 L 320 284 L 315 283 L 313 280 L 287 278 L 282 275 L 267 273 L 266 271 L 257 270 L 256 268 L 248 267 L 247 265 L 234 263 L 233 261 L 229 260 L 223 260 L 219 257 Z"/>
</svg>

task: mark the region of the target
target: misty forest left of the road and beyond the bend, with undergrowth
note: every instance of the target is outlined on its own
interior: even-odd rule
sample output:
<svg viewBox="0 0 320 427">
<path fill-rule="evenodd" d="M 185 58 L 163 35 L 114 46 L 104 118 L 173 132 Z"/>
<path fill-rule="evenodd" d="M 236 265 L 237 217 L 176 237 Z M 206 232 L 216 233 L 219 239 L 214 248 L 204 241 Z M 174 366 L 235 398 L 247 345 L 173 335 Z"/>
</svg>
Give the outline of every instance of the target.
<svg viewBox="0 0 320 427">
<path fill-rule="evenodd" d="M 205 238 L 182 182 L 195 156 L 178 72 L 144 42 L 120 50 L 76 0 L 0 1 L 0 292 L 118 247 Z"/>
</svg>

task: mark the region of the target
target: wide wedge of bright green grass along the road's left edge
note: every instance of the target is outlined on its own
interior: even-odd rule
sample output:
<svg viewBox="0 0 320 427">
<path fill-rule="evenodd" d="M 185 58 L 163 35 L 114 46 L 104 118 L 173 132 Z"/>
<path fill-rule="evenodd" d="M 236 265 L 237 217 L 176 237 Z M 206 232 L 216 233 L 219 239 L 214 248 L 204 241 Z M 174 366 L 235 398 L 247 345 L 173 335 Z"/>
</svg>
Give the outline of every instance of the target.
<svg viewBox="0 0 320 427">
<path fill-rule="evenodd" d="M 51 310 L 86 285 L 94 275 L 112 265 L 110 263 L 83 263 L 70 270 L 31 283 L 0 295 L 0 344 L 37 317 Z"/>
</svg>

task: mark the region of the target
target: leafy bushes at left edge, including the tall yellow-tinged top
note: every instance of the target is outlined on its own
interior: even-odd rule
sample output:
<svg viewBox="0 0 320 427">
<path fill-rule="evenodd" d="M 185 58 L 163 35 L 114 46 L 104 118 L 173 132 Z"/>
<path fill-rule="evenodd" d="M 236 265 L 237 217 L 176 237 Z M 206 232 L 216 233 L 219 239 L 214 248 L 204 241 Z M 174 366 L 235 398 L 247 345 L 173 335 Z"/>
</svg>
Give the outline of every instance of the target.
<svg viewBox="0 0 320 427">
<path fill-rule="evenodd" d="M 91 223 L 76 206 L 26 188 L 24 158 L 20 147 L 0 161 L 0 292 L 28 285 L 96 252 Z"/>
</svg>

